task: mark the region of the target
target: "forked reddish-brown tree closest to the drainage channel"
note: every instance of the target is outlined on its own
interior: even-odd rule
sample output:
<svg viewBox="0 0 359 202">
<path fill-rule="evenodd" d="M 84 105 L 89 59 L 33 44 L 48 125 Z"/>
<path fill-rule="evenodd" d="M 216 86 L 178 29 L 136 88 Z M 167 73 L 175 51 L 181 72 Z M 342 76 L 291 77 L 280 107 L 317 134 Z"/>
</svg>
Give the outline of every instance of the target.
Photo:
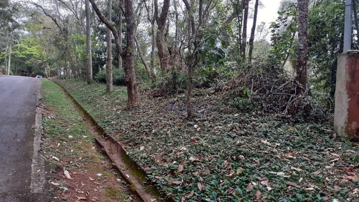
<svg viewBox="0 0 359 202">
<path fill-rule="evenodd" d="M 126 48 L 123 51 L 120 46 L 120 38 L 118 37 L 117 29 L 110 23 L 108 20 L 102 15 L 101 11 L 98 9 L 97 4 L 94 0 L 89 0 L 92 4 L 92 8 L 107 28 L 109 28 L 115 37 L 116 47 L 118 54 L 121 55 L 121 58 L 124 62 L 123 69 L 125 70 L 126 77 L 126 87 L 127 87 L 127 98 L 128 98 L 128 106 L 137 106 L 140 101 L 137 94 L 137 83 L 136 83 L 136 74 L 135 74 L 135 66 L 134 66 L 134 51 L 135 47 L 135 20 L 134 20 L 134 11 L 132 6 L 132 1 L 125 1 L 124 5 L 120 1 L 121 9 L 123 14 L 125 15 L 126 21 Z"/>
</svg>

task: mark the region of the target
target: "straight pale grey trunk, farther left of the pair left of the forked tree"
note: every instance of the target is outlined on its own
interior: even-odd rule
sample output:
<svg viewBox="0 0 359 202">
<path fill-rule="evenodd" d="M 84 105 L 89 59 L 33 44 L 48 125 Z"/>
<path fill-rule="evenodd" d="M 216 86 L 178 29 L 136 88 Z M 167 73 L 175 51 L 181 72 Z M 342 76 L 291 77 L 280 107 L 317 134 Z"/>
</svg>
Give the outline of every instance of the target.
<svg viewBox="0 0 359 202">
<path fill-rule="evenodd" d="M 91 54 L 91 27 L 90 27 L 90 5 L 89 0 L 85 0 L 86 15 L 86 80 L 87 84 L 92 83 L 92 54 Z"/>
</svg>

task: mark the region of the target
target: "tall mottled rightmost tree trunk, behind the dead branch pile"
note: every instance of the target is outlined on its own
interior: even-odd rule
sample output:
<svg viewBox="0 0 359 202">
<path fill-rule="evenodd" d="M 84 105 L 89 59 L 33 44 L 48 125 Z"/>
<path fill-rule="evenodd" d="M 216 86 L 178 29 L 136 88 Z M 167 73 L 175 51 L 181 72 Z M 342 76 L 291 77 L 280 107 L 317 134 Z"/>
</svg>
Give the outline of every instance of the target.
<svg viewBox="0 0 359 202">
<path fill-rule="evenodd" d="M 298 53 L 297 78 L 303 87 L 307 87 L 307 36 L 308 36 L 308 0 L 298 0 Z"/>
</svg>

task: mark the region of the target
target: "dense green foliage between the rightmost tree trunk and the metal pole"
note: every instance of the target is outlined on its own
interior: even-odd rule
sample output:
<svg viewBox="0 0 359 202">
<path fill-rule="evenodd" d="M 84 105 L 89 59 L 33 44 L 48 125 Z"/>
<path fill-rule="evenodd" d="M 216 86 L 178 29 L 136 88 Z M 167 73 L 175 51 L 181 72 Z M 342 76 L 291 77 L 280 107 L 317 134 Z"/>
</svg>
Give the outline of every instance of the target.
<svg viewBox="0 0 359 202">
<path fill-rule="evenodd" d="M 337 55 L 343 51 L 344 9 L 344 0 L 320 1 L 308 15 L 309 78 L 314 87 L 331 96 L 335 92 Z M 357 49 L 356 41 L 352 47 Z"/>
</svg>

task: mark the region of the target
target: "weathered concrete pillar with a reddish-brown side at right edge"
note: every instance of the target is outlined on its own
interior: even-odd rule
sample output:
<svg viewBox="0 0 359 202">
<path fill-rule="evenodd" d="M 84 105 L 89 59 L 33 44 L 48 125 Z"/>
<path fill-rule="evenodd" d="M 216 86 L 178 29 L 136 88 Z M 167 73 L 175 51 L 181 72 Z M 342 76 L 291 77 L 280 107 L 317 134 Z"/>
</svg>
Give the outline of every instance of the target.
<svg viewBox="0 0 359 202">
<path fill-rule="evenodd" d="M 359 51 L 338 56 L 335 88 L 334 131 L 359 139 Z"/>
</svg>

